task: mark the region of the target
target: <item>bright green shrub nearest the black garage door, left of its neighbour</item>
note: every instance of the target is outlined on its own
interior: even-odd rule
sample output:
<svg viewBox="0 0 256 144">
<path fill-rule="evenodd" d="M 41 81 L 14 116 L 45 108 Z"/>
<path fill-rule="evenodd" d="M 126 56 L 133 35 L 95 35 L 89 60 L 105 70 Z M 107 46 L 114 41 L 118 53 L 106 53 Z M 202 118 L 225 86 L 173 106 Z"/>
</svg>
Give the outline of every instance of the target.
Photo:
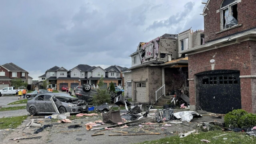
<svg viewBox="0 0 256 144">
<path fill-rule="evenodd" d="M 238 128 L 238 120 L 246 114 L 247 112 L 242 109 L 237 109 L 237 110 L 233 110 L 232 112 L 229 112 L 224 117 L 225 126 L 229 127 L 230 125 L 232 125 L 235 128 Z"/>
</svg>

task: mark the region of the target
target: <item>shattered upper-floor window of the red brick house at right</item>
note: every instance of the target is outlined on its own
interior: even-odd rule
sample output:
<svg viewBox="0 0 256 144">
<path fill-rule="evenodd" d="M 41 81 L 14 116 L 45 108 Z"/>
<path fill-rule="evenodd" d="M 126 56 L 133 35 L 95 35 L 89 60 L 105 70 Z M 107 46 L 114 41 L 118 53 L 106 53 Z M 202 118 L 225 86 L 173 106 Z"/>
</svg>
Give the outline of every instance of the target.
<svg viewBox="0 0 256 144">
<path fill-rule="evenodd" d="M 222 29 L 238 24 L 237 0 L 224 0 L 221 5 Z"/>
</svg>

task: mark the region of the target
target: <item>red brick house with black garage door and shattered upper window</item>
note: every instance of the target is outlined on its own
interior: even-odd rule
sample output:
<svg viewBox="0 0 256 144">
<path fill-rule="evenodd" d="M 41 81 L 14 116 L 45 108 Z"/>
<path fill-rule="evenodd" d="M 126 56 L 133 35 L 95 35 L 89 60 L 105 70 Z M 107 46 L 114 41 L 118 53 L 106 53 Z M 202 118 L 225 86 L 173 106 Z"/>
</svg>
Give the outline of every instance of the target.
<svg viewBox="0 0 256 144">
<path fill-rule="evenodd" d="M 188 55 L 190 109 L 256 113 L 256 2 L 208 0 L 205 44 Z"/>
</svg>

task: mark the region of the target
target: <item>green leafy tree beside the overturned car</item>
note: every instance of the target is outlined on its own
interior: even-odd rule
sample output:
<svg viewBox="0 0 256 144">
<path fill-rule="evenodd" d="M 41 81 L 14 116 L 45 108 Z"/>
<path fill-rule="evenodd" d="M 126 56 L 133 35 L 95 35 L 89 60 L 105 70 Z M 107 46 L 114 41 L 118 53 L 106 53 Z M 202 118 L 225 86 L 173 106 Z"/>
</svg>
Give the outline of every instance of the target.
<svg viewBox="0 0 256 144">
<path fill-rule="evenodd" d="M 95 106 L 99 106 L 103 103 L 111 103 L 110 101 L 110 94 L 107 91 L 107 88 L 104 88 L 104 81 L 103 81 L 103 76 L 100 78 L 99 81 L 99 88 L 97 89 L 97 94 L 94 94 L 93 98 L 92 98 L 92 103 Z"/>
</svg>

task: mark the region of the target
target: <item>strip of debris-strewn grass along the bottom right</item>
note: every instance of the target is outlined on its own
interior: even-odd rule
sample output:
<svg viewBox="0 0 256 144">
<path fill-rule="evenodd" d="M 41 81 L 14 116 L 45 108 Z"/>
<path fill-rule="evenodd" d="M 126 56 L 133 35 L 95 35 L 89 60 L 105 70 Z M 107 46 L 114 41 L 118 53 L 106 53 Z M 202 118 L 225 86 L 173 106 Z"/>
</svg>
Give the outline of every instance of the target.
<svg viewBox="0 0 256 144">
<path fill-rule="evenodd" d="M 212 137 L 224 135 L 218 138 L 213 139 Z M 223 138 L 228 138 L 223 140 Z M 200 140 L 208 140 L 211 144 L 255 144 L 256 137 L 250 137 L 244 133 L 238 132 L 222 132 L 222 131 L 209 131 L 209 132 L 200 132 L 199 134 L 191 134 L 184 138 L 179 138 L 177 136 L 161 138 L 160 140 L 154 141 L 145 141 L 138 144 L 205 144 Z M 253 142 L 254 141 L 254 142 Z"/>
</svg>

